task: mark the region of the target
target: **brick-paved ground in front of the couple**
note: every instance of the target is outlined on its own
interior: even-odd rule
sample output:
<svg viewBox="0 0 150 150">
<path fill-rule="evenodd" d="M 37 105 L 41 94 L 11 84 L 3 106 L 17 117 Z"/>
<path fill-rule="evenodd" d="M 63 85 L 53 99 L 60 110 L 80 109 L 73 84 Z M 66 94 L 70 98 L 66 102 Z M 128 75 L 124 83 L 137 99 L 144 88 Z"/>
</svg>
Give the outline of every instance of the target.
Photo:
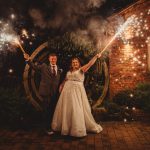
<svg viewBox="0 0 150 150">
<path fill-rule="evenodd" d="M 150 123 L 102 122 L 100 134 L 47 136 L 41 129 L 0 129 L 0 150 L 150 150 Z"/>
</svg>

